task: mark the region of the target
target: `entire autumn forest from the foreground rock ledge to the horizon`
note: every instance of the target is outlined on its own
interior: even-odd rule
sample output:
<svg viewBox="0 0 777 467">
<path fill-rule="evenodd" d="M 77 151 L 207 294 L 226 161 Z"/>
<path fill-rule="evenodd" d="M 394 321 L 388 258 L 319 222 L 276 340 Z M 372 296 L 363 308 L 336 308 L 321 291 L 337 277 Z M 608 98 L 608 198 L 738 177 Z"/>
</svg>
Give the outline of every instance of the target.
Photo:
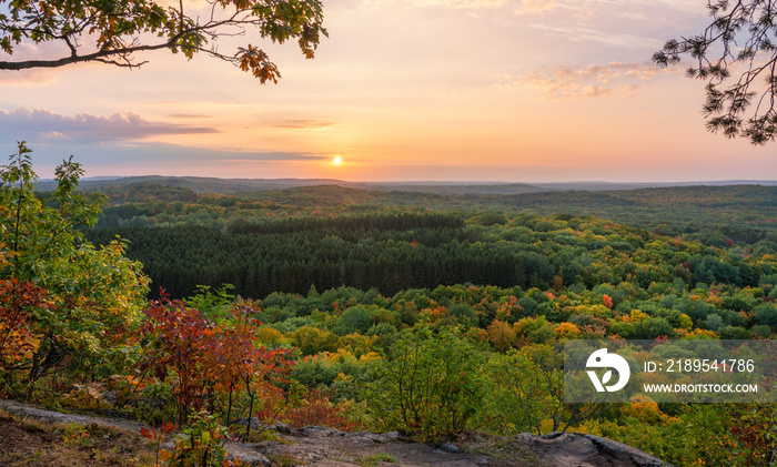
<svg viewBox="0 0 777 467">
<path fill-rule="evenodd" d="M 186 426 L 174 459 L 261 439 L 232 423 L 256 417 L 262 436 L 571 429 L 676 465 L 777 460 L 768 404 L 567 404 L 559 358 L 568 339 L 774 338 L 775 187 L 134 184 L 101 210 L 78 166 L 36 195 L 23 162 L 0 191 L 4 396 Z"/>
</svg>

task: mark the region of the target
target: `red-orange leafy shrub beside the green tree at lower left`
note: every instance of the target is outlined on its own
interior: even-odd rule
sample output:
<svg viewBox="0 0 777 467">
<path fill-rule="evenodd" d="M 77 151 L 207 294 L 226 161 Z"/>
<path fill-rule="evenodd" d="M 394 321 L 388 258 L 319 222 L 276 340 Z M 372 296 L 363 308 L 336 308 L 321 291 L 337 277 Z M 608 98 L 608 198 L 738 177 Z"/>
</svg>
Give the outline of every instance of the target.
<svg viewBox="0 0 777 467">
<path fill-rule="evenodd" d="M 145 309 L 138 332 L 144 352 L 135 367 L 173 386 L 180 424 L 218 394 L 252 390 L 289 373 L 289 351 L 255 345 L 259 321 L 253 315 L 259 311 L 253 302 L 239 300 L 233 319 L 216 326 L 183 301 L 167 296 Z"/>
</svg>

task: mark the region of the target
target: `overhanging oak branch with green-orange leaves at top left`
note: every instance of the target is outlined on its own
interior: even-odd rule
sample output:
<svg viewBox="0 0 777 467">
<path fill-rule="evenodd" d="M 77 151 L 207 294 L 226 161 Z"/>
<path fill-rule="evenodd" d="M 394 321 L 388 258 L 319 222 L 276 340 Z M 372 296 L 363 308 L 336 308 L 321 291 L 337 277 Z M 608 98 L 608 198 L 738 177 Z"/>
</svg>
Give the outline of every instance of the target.
<svg viewBox="0 0 777 467">
<path fill-rule="evenodd" d="M 124 68 L 145 63 L 144 51 L 168 49 L 191 59 L 202 52 L 251 72 L 260 82 L 276 82 L 280 72 L 252 43 L 223 51 L 221 38 L 248 35 L 283 43 L 296 40 L 313 58 L 321 35 L 323 7 L 319 0 L 0 0 L 0 49 L 12 55 L 22 43 L 53 43 L 53 57 L 0 61 L 0 70 L 56 68 L 101 62 Z M 49 49 L 47 49 L 49 50 Z"/>
</svg>

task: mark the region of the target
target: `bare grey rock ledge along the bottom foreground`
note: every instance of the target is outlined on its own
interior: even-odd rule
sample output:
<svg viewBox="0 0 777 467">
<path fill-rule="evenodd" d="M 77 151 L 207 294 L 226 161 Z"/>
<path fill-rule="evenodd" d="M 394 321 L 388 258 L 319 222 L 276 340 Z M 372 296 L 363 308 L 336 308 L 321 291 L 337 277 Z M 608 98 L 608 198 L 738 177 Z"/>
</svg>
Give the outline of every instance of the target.
<svg viewBox="0 0 777 467">
<path fill-rule="evenodd" d="M 61 414 L 0 400 L 0 408 L 47 423 L 98 424 L 138 430 L 140 425 L 113 418 Z M 472 436 L 461 444 L 413 443 L 396 433 L 344 433 L 332 428 L 276 427 L 272 441 L 228 443 L 230 457 L 250 466 L 315 467 L 658 467 L 663 460 L 612 439 L 578 433 Z"/>
</svg>

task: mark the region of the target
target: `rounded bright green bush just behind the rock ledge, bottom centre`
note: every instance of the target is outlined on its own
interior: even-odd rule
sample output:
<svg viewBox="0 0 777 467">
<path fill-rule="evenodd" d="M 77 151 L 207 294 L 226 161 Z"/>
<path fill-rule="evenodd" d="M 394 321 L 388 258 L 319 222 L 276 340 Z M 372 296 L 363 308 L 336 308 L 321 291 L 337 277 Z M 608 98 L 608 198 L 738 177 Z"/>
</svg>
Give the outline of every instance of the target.
<svg viewBox="0 0 777 467">
<path fill-rule="evenodd" d="M 483 357 L 451 328 L 403 332 L 376 361 L 365 397 L 375 422 L 420 439 L 462 433 L 483 405 Z"/>
</svg>

